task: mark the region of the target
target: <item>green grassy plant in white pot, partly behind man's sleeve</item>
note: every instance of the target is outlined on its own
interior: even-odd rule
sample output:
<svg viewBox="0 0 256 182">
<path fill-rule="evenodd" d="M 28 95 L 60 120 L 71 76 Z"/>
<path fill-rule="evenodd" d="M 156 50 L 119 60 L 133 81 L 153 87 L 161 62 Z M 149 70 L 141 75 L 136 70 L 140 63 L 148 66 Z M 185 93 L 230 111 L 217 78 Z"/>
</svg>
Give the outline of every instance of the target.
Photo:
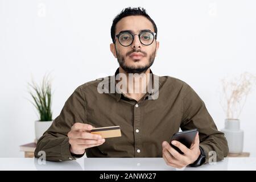
<svg viewBox="0 0 256 182">
<path fill-rule="evenodd" d="M 33 80 L 32 84 L 29 83 L 28 85 L 32 88 L 32 91 L 29 92 L 33 98 L 31 103 L 36 107 L 39 114 L 39 120 L 35 121 L 35 137 L 37 141 L 52 124 L 51 81 L 48 76 L 44 76 L 42 85 L 37 85 Z"/>
</svg>

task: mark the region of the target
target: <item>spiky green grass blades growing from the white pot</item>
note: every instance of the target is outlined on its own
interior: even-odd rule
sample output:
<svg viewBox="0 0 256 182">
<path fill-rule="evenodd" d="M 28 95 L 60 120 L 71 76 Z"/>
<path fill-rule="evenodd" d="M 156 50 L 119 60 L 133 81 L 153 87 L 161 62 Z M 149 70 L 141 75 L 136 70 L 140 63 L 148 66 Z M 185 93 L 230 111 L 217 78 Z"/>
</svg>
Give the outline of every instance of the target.
<svg viewBox="0 0 256 182">
<path fill-rule="evenodd" d="M 32 84 L 28 83 L 28 86 L 32 88 L 32 91 L 29 91 L 30 95 L 33 98 L 33 102 L 30 101 L 38 110 L 40 121 L 52 121 L 52 92 L 51 92 L 51 80 L 49 76 L 44 76 L 42 85 L 38 85 L 32 79 Z"/>
</svg>

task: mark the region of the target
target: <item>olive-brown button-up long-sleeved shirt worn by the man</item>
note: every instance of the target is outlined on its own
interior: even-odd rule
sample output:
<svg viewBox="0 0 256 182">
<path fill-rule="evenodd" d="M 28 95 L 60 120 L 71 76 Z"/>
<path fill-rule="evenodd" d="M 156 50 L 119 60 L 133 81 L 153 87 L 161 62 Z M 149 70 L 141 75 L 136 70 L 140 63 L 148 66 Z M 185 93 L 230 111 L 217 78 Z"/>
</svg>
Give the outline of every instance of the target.
<svg viewBox="0 0 256 182">
<path fill-rule="evenodd" d="M 118 72 L 119 69 L 115 75 Z M 159 79 L 158 97 L 146 93 L 138 102 L 122 93 L 99 93 L 100 79 L 79 86 L 38 140 L 35 156 L 45 151 L 46 160 L 75 159 L 69 150 L 67 134 L 74 123 L 80 122 L 94 127 L 119 125 L 121 128 L 121 137 L 106 138 L 102 145 L 87 148 L 88 158 L 162 158 L 163 141 L 170 142 L 179 129 L 197 128 L 206 163 L 213 156 L 210 151 L 216 152 L 217 161 L 222 160 L 228 154 L 227 141 L 201 98 L 184 81 L 170 76 L 153 77 L 153 83 Z M 108 78 L 110 83 L 114 76 Z"/>
</svg>

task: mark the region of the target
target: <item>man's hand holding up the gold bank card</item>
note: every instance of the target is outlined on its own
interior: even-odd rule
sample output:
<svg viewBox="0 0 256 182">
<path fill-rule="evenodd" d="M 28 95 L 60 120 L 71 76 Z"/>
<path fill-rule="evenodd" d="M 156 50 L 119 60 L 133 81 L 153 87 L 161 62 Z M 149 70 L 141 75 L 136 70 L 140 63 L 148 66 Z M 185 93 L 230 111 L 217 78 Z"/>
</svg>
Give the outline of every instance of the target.
<svg viewBox="0 0 256 182">
<path fill-rule="evenodd" d="M 84 123 L 75 123 L 68 133 L 68 142 L 72 154 L 84 154 L 86 148 L 100 146 L 105 142 L 101 135 L 91 134 L 94 127 Z"/>
</svg>

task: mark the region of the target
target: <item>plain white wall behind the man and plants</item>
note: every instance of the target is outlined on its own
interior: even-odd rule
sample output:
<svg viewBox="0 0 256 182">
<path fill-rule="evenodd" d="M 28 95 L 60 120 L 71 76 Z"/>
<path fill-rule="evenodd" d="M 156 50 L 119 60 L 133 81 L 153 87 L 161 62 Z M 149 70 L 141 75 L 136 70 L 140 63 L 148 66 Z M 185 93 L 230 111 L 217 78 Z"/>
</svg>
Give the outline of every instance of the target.
<svg viewBox="0 0 256 182">
<path fill-rule="evenodd" d="M 184 80 L 205 101 L 218 129 L 225 115 L 220 80 L 256 75 L 256 1 L 0 0 L 0 157 L 23 157 L 38 119 L 28 101 L 31 75 L 53 77 L 53 118 L 77 86 L 118 67 L 110 26 L 127 6 L 142 6 L 158 26 L 152 71 Z M 256 156 L 256 89 L 241 114 L 244 151 Z"/>
</svg>

